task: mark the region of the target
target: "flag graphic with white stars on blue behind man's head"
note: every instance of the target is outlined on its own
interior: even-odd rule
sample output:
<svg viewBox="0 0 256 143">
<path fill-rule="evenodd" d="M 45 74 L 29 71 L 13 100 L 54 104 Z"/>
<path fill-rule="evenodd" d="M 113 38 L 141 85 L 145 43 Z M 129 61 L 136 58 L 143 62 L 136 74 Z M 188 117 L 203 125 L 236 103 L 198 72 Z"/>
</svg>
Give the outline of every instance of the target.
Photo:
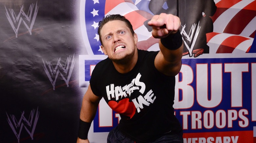
<svg viewBox="0 0 256 143">
<path fill-rule="evenodd" d="M 150 0 L 87 0 L 85 4 L 85 22 L 88 39 L 94 55 L 102 55 L 99 37 L 97 35 L 97 24 L 103 16 L 109 14 L 120 14 L 125 16 L 133 25 L 139 41 L 144 41 L 152 37 L 144 26 L 144 22 L 153 17 L 153 13 L 148 9 Z M 148 45 L 155 44 L 151 41 Z"/>
</svg>

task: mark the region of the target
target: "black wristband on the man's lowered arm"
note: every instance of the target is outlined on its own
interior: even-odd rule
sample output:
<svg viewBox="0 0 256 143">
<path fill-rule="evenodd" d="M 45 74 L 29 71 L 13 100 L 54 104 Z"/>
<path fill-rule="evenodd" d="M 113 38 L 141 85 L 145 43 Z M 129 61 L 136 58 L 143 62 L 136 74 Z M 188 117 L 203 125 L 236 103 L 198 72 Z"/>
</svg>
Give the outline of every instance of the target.
<svg viewBox="0 0 256 143">
<path fill-rule="evenodd" d="M 89 129 L 92 123 L 84 122 L 79 120 L 78 137 L 80 139 L 87 139 Z"/>
</svg>

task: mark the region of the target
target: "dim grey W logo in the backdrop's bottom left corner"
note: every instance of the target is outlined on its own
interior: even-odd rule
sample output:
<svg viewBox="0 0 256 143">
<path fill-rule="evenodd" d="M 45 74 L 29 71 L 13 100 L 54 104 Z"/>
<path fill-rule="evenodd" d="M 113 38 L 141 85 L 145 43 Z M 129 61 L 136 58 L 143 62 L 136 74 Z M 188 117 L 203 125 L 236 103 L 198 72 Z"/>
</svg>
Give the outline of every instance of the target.
<svg viewBox="0 0 256 143">
<path fill-rule="evenodd" d="M 38 117 L 39 117 L 38 108 L 36 110 L 36 113 L 35 113 L 34 109 L 30 112 L 29 119 L 26 119 L 24 117 L 24 114 L 25 114 L 25 111 L 23 111 L 21 113 L 21 117 L 20 117 L 19 121 L 17 121 L 17 119 L 15 118 L 14 115 L 10 115 L 10 117 L 9 117 L 8 114 L 6 113 L 7 121 L 9 123 L 13 133 L 17 137 L 18 142 L 20 142 L 20 134 L 21 134 L 23 127 L 26 129 L 26 131 L 29 133 L 30 137 L 33 140 L 35 126 L 36 126 L 36 123 L 37 123 Z"/>
</svg>

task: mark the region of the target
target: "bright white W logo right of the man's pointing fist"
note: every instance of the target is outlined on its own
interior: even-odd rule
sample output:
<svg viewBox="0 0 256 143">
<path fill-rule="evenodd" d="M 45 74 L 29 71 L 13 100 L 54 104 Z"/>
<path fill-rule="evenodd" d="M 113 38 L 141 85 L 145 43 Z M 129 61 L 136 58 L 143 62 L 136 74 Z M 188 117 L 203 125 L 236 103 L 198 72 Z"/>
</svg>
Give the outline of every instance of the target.
<svg viewBox="0 0 256 143">
<path fill-rule="evenodd" d="M 182 30 L 181 30 L 181 35 L 183 34 L 185 37 L 186 37 L 186 40 L 189 41 L 189 43 L 192 42 L 191 44 L 191 47 L 189 47 L 189 45 L 184 41 L 183 37 L 183 41 L 184 41 L 184 44 L 186 46 L 186 48 L 188 49 L 188 53 L 189 53 L 189 56 L 192 57 L 193 56 L 193 49 L 194 49 L 194 46 L 195 46 L 195 43 L 197 41 L 197 37 L 199 35 L 199 32 L 200 32 L 200 28 L 201 26 L 199 26 L 199 23 L 200 21 L 198 22 L 198 26 L 197 24 L 193 24 L 190 28 L 190 31 L 189 31 L 189 34 L 186 33 L 185 31 L 185 27 L 186 27 L 186 24 L 184 26 L 182 26 Z M 197 29 L 196 29 L 196 26 L 197 26 Z M 196 30 L 196 31 L 195 31 Z M 193 38 L 193 35 L 195 34 L 194 38 Z M 192 40 L 193 38 L 193 40 Z"/>
</svg>

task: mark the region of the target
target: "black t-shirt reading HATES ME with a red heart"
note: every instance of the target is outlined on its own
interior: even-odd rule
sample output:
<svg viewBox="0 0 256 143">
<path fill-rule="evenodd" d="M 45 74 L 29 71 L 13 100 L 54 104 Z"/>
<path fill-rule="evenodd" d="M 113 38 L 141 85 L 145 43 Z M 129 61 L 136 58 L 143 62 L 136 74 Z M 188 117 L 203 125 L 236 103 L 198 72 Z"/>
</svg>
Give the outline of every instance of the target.
<svg viewBox="0 0 256 143">
<path fill-rule="evenodd" d="M 120 114 L 122 133 L 137 142 L 181 131 L 173 108 L 175 77 L 155 68 L 157 54 L 138 50 L 135 67 L 124 74 L 106 58 L 95 66 L 90 80 L 93 93 Z"/>
</svg>

